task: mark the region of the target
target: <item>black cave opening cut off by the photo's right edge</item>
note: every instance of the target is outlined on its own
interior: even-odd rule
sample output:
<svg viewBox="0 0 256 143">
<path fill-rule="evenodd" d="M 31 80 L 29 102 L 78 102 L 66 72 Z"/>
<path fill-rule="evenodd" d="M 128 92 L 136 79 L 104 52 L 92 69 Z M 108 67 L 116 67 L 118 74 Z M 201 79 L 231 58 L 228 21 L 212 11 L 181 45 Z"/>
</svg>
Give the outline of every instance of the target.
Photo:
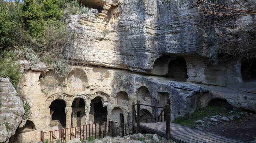
<svg viewBox="0 0 256 143">
<path fill-rule="evenodd" d="M 241 74 L 245 82 L 256 80 L 256 58 L 243 60 Z"/>
</svg>

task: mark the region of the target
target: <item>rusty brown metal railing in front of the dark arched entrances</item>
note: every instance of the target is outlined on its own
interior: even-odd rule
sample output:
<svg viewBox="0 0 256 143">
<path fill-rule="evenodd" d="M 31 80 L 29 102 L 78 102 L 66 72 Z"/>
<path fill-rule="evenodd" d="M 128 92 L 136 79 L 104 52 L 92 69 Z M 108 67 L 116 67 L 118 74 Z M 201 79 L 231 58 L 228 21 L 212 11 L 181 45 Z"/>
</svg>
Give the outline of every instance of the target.
<svg viewBox="0 0 256 143">
<path fill-rule="evenodd" d="M 105 121 L 83 126 L 71 127 L 55 131 L 41 131 L 40 140 L 47 143 L 63 143 L 74 138 L 87 140 L 89 138 L 116 137 L 120 135 L 120 123 Z"/>
</svg>

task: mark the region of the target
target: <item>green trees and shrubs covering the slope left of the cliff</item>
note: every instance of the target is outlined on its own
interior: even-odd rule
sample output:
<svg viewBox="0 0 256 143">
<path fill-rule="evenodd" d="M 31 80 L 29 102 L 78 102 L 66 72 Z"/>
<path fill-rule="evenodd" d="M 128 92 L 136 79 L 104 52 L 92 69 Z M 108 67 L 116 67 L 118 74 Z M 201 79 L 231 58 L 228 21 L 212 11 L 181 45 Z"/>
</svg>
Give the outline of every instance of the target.
<svg viewBox="0 0 256 143">
<path fill-rule="evenodd" d="M 75 37 L 67 18 L 80 12 L 88 8 L 76 0 L 0 0 L 0 77 L 9 77 L 17 89 L 19 59 L 42 61 L 65 76 L 70 65 L 65 56 Z"/>
</svg>

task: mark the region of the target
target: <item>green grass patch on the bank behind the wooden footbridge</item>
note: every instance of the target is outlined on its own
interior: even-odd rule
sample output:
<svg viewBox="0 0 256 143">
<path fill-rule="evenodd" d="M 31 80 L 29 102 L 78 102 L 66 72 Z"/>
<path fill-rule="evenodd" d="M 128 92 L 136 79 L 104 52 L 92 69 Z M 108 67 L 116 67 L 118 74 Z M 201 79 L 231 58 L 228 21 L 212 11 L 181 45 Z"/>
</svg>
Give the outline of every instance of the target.
<svg viewBox="0 0 256 143">
<path fill-rule="evenodd" d="M 184 126 L 194 127 L 197 120 L 202 120 L 204 117 L 210 117 L 214 115 L 227 115 L 230 110 L 223 107 L 208 106 L 202 109 L 197 109 L 189 118 L 177 117 L 173 123 L 177 123 Z"/>
</svg>

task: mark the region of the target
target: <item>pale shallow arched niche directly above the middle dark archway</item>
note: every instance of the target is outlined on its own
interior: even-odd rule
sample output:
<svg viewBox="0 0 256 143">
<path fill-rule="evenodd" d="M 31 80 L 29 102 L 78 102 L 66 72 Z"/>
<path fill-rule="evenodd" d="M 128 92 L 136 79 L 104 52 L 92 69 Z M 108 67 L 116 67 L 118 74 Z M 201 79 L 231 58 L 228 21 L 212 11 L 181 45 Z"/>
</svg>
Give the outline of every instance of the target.
<svg viewBox="0 0 256 143">
<path fill-rule="evenodd" d="M 84 70 L 74 69 L 67 76 L 67 85 L 70 89 L 76 91 L 85 91 L 87 75 Z"/>
</svg>

